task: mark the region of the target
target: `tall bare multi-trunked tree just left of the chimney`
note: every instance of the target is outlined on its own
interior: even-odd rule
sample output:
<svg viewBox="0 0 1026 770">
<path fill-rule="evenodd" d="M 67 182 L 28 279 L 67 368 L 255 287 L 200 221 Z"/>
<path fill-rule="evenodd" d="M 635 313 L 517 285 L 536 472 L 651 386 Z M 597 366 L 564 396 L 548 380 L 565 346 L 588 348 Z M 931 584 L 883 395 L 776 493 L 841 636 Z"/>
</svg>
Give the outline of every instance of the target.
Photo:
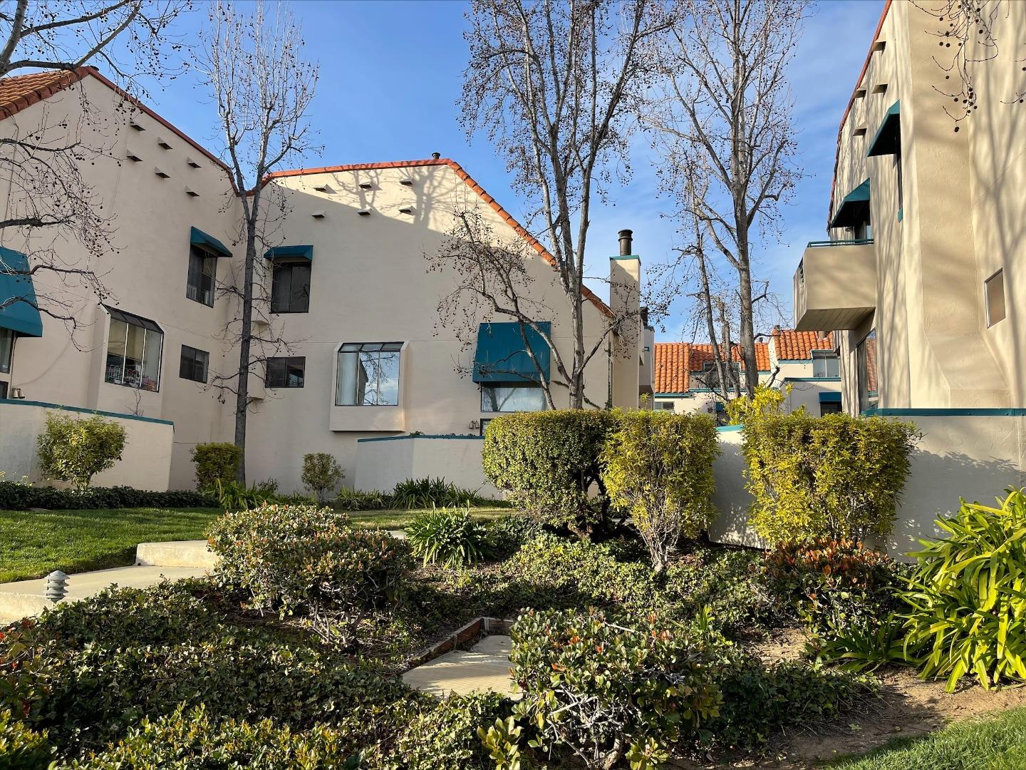
<svg viewBox="0 0 1026 770">
<path fill-rule="evenodd" d="M 629 117 L 644 88 L 640 46 L 665 26 L 656 10 L 649 0 L 473 0 L 467 13 L 463 122 L 506 156 L 535 207 L 528 226 L 537 223 L 573 309 L 574 355 L 557 361 L 571 407 L 585 403 L 588 362 L 631 325 L 611 317 L 602 339 L 585 345 L 585 247 L 592 196 L 614 168 L 629 174 Z"/>
</svg>

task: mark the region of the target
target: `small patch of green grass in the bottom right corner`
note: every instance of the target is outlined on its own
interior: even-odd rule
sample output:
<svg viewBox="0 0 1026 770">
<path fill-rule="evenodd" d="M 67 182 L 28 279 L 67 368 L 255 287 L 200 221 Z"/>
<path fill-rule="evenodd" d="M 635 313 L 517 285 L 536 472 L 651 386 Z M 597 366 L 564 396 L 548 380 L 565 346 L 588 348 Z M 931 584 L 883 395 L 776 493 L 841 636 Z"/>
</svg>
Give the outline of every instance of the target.
<svg viewBox="0 0 1026 770">
<path fill-rule="evenodd" d="M 1026 707 L 959 722 L 919 738 L 893 740 L 861 757 L 831 762 L 832 770 L 1022 770 Z"/>
</svg>

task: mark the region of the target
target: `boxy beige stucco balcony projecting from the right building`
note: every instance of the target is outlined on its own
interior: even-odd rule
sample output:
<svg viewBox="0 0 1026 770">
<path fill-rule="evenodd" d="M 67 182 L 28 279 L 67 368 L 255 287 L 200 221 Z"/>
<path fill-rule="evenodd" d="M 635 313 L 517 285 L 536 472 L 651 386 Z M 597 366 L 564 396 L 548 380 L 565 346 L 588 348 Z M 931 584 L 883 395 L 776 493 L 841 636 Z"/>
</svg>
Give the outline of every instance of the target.
<svg viewBox="0 0 1026 770">
<path fill-rule="evenodd" d="M 794 328 L 857 329 L 876 308 L 871 239 L 814 240 L 794 273 Z"/>
</svg>

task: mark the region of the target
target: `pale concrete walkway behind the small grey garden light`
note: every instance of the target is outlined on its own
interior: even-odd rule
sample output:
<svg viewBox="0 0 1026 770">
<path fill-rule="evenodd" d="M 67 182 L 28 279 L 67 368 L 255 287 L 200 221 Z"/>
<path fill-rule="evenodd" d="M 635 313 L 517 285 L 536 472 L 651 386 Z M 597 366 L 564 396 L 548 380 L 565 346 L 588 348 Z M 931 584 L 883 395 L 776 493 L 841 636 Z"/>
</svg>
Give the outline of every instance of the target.
<svg viewBox="0 0 1026 770">
<path fill-rule="evenodd" d="M 111 584 L 123 588 L 146 588 L 163 579 L 180 580 L 202 577 L 202 567 L 116 567 L 112 570 L 80 572 L 68 577 L 68 595 L 64 602 L 77 602 L 91 596 Z M 53 605 L 43 595 L 46 579 L 16 580 L 0 583 L 0 623 L 6 624 L 30 615 L 38 615 Z"/>
</svg>

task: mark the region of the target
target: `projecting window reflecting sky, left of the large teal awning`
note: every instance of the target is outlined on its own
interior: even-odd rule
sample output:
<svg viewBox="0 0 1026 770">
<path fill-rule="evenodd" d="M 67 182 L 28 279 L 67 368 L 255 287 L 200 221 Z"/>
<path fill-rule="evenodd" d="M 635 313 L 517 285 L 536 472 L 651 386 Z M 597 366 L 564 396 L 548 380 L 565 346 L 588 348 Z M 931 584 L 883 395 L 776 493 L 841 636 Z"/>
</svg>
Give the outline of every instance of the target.
<svg viewBox="0 0 1026 770">
<path fill-rule="evenodd" d="M 401 342 L 347 342 L 339 348 L 336 406 L 399 406 L 401 350 Z"/>
</svg>

